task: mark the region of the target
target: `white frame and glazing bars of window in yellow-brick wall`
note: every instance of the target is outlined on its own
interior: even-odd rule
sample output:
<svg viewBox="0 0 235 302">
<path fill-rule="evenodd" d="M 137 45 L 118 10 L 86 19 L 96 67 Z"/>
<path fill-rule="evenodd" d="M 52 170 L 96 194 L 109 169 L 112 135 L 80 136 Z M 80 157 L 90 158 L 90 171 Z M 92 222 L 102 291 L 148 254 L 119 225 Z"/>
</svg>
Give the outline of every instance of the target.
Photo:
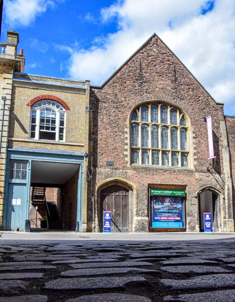
<svg viewBox="0 0 235 302">
<path fill-rule="evenodd" d="M 48 104 L 45 104 L 45 105 L 42 105 L 40 107 L 38 107 L 38 103 L 42 103 L 42 102 L 51 102 L 51 103 L 55 103 L 58 106 L 60 106 L 60 108 L 56 108 L 55 106 L 52 106 L 52 105 L 48 105 Z M 30 113 L 30 131 L 29 131 L 29 138 L 31 140 L 44 140 L 44 139 L 39 139 L 39 124 L 40 124 L 40 112 L 42 109 L 45 109 L 45 108 L 50 108 L 50 109 L 53 109 L 55 112 L 56 112 L 56 135 L 55 135 L 55 140 L 47 140 L 45 139 L 45 141 L 53 141 L 53 142 L 65 142 L 65 133 L 66 133 L 66 110 L 64 109 L 64 107 L 59 104 L 58 102 L 56 101 L 51 101 L 51 100 L 42 100 L 42 101 L 38 101 L 37 103 L 33 104 L 32 107 L 31 107 L 31 113 Z M 32 126 L 32 113 L 33 111 L 36 111 L 36 129 L 35 129 L 35 137 L 31 137 L 31 126 Z M 60 113 L 63 113 L 64 114 L 64 134 L 63 134 L 63 140 L 60 140 L 59 139 L 59 135 L 60 135 Z M 50 133 L 53 133 L 53 131 L 47 131 L 45 130 L 45 132 L 50 132 Z"/>
</svg>

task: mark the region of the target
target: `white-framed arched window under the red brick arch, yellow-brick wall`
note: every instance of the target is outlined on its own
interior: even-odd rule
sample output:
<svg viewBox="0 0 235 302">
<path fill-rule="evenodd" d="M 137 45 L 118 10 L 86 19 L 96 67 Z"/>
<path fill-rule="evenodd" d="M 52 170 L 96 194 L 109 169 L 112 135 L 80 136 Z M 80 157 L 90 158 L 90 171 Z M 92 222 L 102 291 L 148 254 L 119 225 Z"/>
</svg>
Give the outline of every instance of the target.
<svg viewBox="0 0 235 302">
<path fill-rule="evenodd" d="M 33 104 L 30 138 L 65 141 L 65 115 L 64 107 L 55 101 L 43 100 Z"/>
</svg>

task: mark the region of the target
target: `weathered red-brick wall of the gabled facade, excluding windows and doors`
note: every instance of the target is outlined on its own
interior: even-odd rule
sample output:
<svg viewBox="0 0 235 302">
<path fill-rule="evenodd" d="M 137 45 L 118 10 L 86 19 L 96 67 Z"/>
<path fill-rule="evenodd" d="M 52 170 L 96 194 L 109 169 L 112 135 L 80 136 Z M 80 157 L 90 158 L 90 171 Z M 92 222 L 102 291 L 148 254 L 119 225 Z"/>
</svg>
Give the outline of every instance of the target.
<svg viewBox="0 0 235 302">
<path fill-rule="evenodd" d="M 151 100 L 162 100 L 181 108 L 193 128 L 191 145 L 194 169 L 128 166 L 125 128 L 132 108 Z M 119 177 L 138 189 L 137 213 L 148 216 L 148 184 L 187 185 L 187 229 L 199 225 L 197 190 L 211 185 L 224 190 L 220 121 L 223 105 L 217 104 L 181 62 L 156 37 L 150 39 L 101 88 L 90 89 L 93 114 L 92 190 L 88 192 L 88 220 L 93 221 L 96 186 L 107 178 Z M 216 168 L 207 170 L 207 125 L 203 117 L 212 114 Z M 193 141 L 194 140 L 194 141 Z M 193 142 L 193 143 L 192 143 Z M 113 160 L 113 166 L 106 161 Z M 97 205 L 100 207 L 100 205 Z"/>
</svg>

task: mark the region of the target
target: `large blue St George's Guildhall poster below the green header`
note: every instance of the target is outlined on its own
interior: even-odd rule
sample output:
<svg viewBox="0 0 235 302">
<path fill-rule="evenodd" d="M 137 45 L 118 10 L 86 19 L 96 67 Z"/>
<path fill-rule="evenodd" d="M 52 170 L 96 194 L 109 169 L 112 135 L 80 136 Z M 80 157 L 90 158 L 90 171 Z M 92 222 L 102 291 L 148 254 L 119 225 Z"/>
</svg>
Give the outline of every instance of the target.
<svg viewBox="0 0 235 302">
<path fill-rule="evenodd" d="M 184 228 L 184 197 L 150 195 L 150 227 Z"/>
</svg>

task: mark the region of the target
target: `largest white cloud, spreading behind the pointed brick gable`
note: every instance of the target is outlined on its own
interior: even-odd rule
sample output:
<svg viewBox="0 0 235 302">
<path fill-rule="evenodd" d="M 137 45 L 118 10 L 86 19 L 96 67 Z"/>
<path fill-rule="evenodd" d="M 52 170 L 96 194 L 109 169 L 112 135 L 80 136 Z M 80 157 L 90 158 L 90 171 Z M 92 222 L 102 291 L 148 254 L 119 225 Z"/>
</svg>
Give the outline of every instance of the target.
<svg viewBox="0 0 235 302">
<path fill-rule="evenodd" d="M 100 22 L 114 20 L 118 30 L 94 37 L 90 49 L 69 49 L 69 76 L 100 85 L 156 32 L 215 100 L 226 103 L 225 113 L 230 104 L 235 114 L 235 2 L 215 1 L 200 14 L 208 3 L 126 0 L 103 8 Z"/>
</svg>

